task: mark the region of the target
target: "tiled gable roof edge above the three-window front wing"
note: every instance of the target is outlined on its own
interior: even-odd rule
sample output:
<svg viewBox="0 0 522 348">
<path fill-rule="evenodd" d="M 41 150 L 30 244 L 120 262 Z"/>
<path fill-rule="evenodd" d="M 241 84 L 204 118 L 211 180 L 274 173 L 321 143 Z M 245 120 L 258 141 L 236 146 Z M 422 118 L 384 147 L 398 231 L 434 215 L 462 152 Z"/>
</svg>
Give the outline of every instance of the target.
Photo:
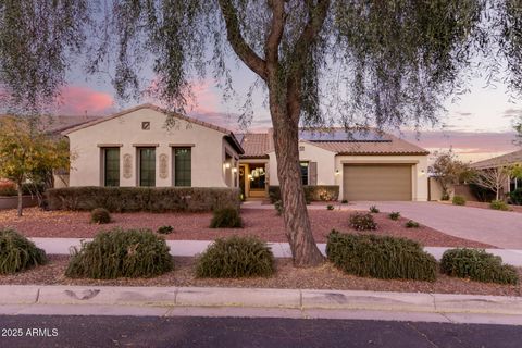
<svg viewBox="0 0 522 348">
<path fill-rule="evenodd" d="M 154 105 L 154 104 L 151 104 L 151 103 L 140 104 L 140 105 L 137 105 L 137 107 L 134 107 L 134 108 L 122 110 L 117 113 L 114 113 L 114 114 L 111 114 L 111 115 L 108 115 L 108 116 L 104 116 L 104 117 L 100 117 L 98 120 L 85 122 L 85 123 L 79 124 L 79 125 L 74 125 L 73 127 L 70 127 L 70 128 L 66 128 L 65 130 L 62 130 L 61 134 L 64 135 L 64 136 L 67 136 L 69 134 L 71 134 L 73 132 L 84 129 L 84 128 L 97 125 L 99 123 L 103 123 L 105 121 L 117 119 L 120 116 L 126 115 L 128 113 L 141 110 L 141 109 L 151 109 L 151 110 L 158 111 L 158 112 L 163 113 L 163 114 L 173 115 L 176 119 L 179 119 L 179 120 L 183 120 L 183 121 L 186 121 L 186 122 L 195 123 L 195 124 L 198 124 L 200 126 L 221 132 L 225 135 L 226 140 L 238 151 L 239 154 L 245 153 L 243 147 L 240 146 L 239 141 L 237 141 L 236 136 L 234 135 L 234 133 L 232 130 L 228 130 L 226 128 L 213 125 L 213 124 L 204 122 L 204 121 L 200 121 L 198 119 L 192 119 L 192 117 L 189 117 L 189 116 L 182 115 L 179 113 L 170 112 L 165 109 L 162 109 L 162 108 L 160 108 L 158 105 Z"/>
</svg>

